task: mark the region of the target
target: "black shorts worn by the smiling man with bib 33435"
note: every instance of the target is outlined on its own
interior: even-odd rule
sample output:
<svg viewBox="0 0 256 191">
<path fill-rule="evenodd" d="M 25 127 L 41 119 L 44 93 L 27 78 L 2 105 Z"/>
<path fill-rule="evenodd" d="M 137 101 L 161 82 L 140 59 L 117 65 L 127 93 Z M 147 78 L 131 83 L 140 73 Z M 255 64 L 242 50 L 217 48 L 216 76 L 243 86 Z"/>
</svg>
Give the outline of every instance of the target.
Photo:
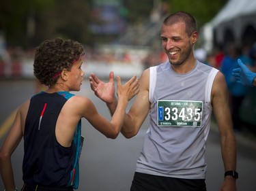
<svg viewBox="0 0 256 191">
<path fill-rule="evenodd" d="M 206 191 L 205 179 L 180 179 L 134 173 L 130 191 Z"/>
</svg>

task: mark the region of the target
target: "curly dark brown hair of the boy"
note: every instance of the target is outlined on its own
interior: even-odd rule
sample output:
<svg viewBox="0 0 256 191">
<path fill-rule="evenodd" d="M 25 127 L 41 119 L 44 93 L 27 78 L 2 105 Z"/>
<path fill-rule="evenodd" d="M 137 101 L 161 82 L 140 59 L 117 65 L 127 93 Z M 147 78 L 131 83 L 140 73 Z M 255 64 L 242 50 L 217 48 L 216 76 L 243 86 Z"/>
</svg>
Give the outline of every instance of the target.
<svg viewBox="0 0 256 191">
<path fill-rule="evenodd" d="M 60 38 L 45 40 L 35 49 L 33 73 L 42 84 L 52 86 L 59 78 L 56 74 L 63 69 L 70 71 L 74 60 L 83 54 L 83 45 L 77 41 Z"/>
</svg>

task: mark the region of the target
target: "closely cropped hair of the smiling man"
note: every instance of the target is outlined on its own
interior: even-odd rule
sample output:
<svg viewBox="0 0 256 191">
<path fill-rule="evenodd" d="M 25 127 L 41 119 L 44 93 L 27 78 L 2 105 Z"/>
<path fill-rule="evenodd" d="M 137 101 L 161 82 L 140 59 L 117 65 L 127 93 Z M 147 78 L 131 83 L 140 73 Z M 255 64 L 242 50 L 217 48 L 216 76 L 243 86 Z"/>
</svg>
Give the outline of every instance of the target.
<svg viewBox="0 0 256 191">
<path fill-rule="evenodd" d="M 197 22 L 195 18 L 188 14 L 187 12 L 175 12 L 170 14 L 165 18 L 163 24 L 172 25 L 177 22 L 184 22 L 186 24 L 186 33 L 188 36 L 192 35 L 195 31 L 197 31 Z"/>
</svg>

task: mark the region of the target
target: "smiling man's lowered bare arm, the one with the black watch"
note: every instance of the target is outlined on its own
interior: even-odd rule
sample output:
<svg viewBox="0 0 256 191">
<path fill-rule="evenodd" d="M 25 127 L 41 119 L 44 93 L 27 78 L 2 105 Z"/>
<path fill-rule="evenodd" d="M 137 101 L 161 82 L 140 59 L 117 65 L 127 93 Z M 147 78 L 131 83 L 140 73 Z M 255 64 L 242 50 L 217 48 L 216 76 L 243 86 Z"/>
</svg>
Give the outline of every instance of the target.
<svg viewBox="0 0 256 191">
<path fill-rule="evenodd" d="M 221 136 L 221 154 L 225 171 L 235 171 L 236 139 L 233 134 L 227 85 L 221 72 L 217 73 L 212 87 L 212 105 Z M 221 190 L 236 190 L 236 179 L 227 176 Z"/>
</svg>

